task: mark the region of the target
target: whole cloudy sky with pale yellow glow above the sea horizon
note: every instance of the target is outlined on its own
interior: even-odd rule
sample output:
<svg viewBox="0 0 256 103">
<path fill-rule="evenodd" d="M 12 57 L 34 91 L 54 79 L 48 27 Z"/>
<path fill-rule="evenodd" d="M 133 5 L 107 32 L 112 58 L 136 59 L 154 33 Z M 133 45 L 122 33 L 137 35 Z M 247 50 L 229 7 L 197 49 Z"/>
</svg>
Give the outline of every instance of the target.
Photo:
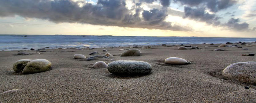
<svg viewBox="0 0 256 103">
<path fill-rule="evenodd" d="M 256 1 L 0 0 L 0 34 L 256 37 Z"/>
</svg>

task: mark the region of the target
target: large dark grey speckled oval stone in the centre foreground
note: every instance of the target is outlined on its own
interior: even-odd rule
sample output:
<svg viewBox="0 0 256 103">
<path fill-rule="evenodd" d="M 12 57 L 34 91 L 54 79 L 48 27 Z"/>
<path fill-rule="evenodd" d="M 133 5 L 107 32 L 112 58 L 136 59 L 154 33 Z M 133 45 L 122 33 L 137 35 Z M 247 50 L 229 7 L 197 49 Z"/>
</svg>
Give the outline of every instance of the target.
<svg viewBox="0 0 256 103">
<path fill-rule="evenodd" d="M 151 65 L 144 61 L 119 60 L 108 66 L 108 71 L 115 75 L 147 75 L 151 70 Z"/>
</svg>

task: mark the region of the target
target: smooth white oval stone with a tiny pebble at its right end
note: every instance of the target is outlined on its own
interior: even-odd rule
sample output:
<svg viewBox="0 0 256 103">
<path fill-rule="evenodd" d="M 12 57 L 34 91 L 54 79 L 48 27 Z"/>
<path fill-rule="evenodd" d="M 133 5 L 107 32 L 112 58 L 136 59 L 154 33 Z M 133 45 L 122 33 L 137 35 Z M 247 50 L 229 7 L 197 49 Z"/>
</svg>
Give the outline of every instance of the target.
<svg viewBox="0 0 256 103">
<path fill-rule="evenodd" d="M 170 57 L 165 59 L 165 64 L 184 65 L 187 64 L 187 60 L 183 58 Z"/>
</svg>

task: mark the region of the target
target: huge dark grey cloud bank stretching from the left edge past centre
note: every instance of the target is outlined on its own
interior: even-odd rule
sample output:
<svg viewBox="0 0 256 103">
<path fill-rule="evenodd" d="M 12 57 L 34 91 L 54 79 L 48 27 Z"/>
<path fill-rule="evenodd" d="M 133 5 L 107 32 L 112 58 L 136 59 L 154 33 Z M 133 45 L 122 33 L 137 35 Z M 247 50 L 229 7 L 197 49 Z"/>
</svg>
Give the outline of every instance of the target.
<svg viewBox="0 0 256 103">
<path fill-rule="evenodd" d="M 84 5 L 80 7 L 80 3 Z M 40 18 L 55 23 L 88 23 L 173 31 L 191 30 L 188 27 L 172 26 L 171 22 L 165 22 L 166 11 L 164 10 L 143 11 L 139 6 L 140 4 L 128 10 L 125 0 L 98 0 L 97 5 L 72 0 L 0 0 L 0 16 L 19 15 L 24 18 Z M 132 10 L 135 10 L 135 13 Z M 142 11 L 144 12 L 143 18 L 140 17 Z"/>
</svg>

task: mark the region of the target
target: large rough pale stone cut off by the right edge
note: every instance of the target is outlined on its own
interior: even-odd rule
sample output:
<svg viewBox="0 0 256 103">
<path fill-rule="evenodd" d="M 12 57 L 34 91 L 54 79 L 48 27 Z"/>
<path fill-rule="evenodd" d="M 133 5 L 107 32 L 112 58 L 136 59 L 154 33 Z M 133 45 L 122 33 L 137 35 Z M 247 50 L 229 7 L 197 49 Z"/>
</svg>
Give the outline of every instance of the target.
<svg viewBox="0 0 256 103">
<path fill-rule="evenodd" d="M 225 79 L 256 84 L 256 62 L 238 62 L 228 65 L 222 75 Z"/>
</svg>

